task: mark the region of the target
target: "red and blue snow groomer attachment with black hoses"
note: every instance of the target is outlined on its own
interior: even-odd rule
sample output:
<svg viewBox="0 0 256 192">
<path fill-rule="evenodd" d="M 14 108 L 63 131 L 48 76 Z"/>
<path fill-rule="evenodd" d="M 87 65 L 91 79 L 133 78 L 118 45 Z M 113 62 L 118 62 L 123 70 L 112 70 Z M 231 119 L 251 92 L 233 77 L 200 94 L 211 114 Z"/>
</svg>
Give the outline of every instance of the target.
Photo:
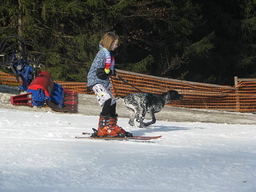
<svg viewBox="0 0 256 192">
<path fill-rule="evenodd" d="M 14 40 L 18 41 L 15 42 Z M 13 42 L 11 45 L 9 42 Z M 37 54 L 29 54 L 27 48 L 36 47 Z M 38 54 L 39 52 L 39 54 Z M 3 54 L 4 53 L 4 54 Z M 19 88 L 27 91 L 25 94 L 11 97 L 12 105 L 42 107 L 48 105 L 55 111 L 77 113 L 77 93 L 63 89 L 53 82 L 47 71 L 36 73 L 40 68 L 42 51 L 33 42 L 24 41 L 20 36 L 5 38 L 0 44 L 1 56 L 7 56 L 5 65 L 14 74 Z M 21 81 L 20 81 L 21 79 Z"/>
</svg>

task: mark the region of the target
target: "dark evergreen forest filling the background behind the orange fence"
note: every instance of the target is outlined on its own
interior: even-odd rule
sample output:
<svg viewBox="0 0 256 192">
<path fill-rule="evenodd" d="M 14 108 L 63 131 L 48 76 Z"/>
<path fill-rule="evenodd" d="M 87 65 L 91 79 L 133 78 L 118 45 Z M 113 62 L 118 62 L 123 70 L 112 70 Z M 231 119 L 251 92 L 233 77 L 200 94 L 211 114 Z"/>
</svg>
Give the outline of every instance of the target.
<svg viewBox="0 0 256 192">
<path fill-rule="evenodd" d="M 256 78 L 255 0 L 1 0 L 0 40 L 38 44 L 54 80 L 86 82 L 108 31 L 119 36 L 117 69 L 220 85 Z"/>
</svg>

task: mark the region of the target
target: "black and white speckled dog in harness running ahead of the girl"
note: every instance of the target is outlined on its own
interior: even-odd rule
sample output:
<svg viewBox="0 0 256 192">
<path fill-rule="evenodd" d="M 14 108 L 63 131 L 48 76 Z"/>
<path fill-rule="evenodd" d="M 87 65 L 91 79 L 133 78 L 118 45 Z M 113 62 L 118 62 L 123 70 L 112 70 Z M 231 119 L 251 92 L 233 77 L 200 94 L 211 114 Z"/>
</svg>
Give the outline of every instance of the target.
<svg viewBox="0 0 256 192">
<path fill-rule="evenodd" d="M 161 111 L 164 104 L 172 100 L 182 100 L 183 96 L 175 90 L 169 90 L 163 94 L 131 93 L 118 99 L 122 99 L 124 107 L 130 111 L 129 124 L 135 126 L 134 119 L 136 118 L 136 121 L 140 123 L 139 127 L 146 127 L 156 123 L 155 113 Z M 140 108 L 143 108 L 141 117 Z M 143 123 L 146 112 L 150 114 L 152 121 Z"/>
</svg>

